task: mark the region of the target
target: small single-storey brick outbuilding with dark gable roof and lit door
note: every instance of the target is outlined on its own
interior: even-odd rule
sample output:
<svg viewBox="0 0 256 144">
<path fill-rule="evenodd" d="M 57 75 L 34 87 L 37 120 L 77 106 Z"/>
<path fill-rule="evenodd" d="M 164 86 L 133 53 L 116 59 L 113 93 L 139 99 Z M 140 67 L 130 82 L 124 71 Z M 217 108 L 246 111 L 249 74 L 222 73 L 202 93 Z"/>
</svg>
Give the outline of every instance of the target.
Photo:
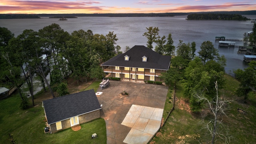
<svg viewBox="0 0 256 144">
<path fill-rule="evenodd" d="M 42 102 L 51 133 L 100 118 L 100 103 L 94 90 L 60 96 Z"/>
</svg>

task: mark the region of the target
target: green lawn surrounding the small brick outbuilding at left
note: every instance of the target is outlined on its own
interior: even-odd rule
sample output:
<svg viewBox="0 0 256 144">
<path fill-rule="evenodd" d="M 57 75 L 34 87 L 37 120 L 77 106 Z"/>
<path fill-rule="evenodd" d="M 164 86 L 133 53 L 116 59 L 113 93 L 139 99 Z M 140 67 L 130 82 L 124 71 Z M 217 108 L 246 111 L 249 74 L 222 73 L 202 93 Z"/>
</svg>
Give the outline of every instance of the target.
<svg viewBox="0 0 256 144">
<path fill-rule="evenodd" d="M 98 82 L 95 83 L 88 89 L 95 90 Z M 41 94 L 43 95 L 44 93 Z M 10 144 L 11 134 L 16 144 L 106 144 L 104 119 L 98 118 L 80 124 L 82 128 L 76 132 L 68 128 L 54 134 L 44 134 L 46 120 L 42 106 L 39 104 L 27 110 L 20 110 L 20 101 L 18 94 L 0 100 L 0 143 Z M 94 133 L 98 138 L 91 139 Z"/>
</svg>

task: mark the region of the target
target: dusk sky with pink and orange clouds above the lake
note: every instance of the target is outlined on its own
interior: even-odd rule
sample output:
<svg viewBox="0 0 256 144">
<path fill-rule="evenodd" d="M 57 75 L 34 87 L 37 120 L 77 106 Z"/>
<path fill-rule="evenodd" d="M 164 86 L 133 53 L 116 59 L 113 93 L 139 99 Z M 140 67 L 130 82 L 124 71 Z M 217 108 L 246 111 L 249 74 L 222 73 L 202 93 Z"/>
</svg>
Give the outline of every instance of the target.
<svg viewBox="0 0 256 144">
<path fill-rule="evenodd" d="M 256 10 L 256 0 L 0 0 L 0 14 L 166 13 Z"/>
</svg>

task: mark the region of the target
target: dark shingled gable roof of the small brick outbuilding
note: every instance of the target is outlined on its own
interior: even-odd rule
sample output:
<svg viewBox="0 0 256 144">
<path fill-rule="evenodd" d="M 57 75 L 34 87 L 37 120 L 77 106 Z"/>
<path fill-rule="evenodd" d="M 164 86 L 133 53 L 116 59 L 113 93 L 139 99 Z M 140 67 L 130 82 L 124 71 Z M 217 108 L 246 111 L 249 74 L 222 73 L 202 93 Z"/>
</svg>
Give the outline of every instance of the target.
<svg viewBox="0 0 256 144">
<path fill-rule="evenodd" d="M 48 124 L 101 109 L 93 89 L 44 100 L 43 106 Z"/>
</svg>

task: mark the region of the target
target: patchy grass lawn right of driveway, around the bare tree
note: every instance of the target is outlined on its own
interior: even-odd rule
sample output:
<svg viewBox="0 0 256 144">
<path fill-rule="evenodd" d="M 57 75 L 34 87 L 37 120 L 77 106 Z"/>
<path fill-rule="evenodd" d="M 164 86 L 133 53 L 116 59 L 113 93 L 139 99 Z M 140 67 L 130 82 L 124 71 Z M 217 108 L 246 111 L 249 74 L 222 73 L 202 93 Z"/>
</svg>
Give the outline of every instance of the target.
<svg viewBox="0 0 256 144">
<path fill-rule="evenodd" d="M 227 116 L 222 115 L 222 125 L 219 132 L 230 137 L 231 144 L 256 144 L 256 93 L 249 94 L 248 99 L 237 97 L 235 90 L 239 82 L 231 76 L 225 75 L 226 84 L 220 90 L 220 97 L 233 100 L 229 103 Z M 176 85 L 175 110 L 170 114 L 164 127 L 154 136 L 151 142 L 156 144 L 208 144 L 212 136 L 205 128 L 205 123 L 211 120 L 211 112 L 202 119 L 200 113 L 189 112 L 186 107 L 179 105 L 184 100 L 183 89 Z M 167 97 L 168 98 L 168 97 Z M 166 102 L 168 102 L 166 100 Z M 166 103 L 167 104 L 167 103 Z M 246 110 L 246 114 L 239 113 L 237 108 Z M 224 144 L 225 140 L 216 136 L 215 144 Z"/>
</svg>

